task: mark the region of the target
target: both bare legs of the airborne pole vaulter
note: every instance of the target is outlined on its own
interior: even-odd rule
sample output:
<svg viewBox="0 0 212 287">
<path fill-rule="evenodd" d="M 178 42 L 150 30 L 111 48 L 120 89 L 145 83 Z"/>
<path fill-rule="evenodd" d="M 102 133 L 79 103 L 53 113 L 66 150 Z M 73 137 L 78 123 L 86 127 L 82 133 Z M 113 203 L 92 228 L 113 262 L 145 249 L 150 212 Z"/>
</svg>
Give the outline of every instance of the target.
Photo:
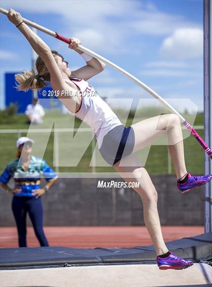
<svg viewBox="0 0 212 287">
<path fill-rule="evenodd" d="M 162 116 L 138 122 L 132 125 L 132 128 L 135 133 L 133 152 L 144 148 L 151 144 L 155 139 L 167 134 L 169 151 L 177 179 L 186 175 L 187 171 L 184 160 L 183 137 L 178 116 L 175 114 L 164 114 Z M 157 192 L 146 169 L 142 167 L 142 164 L 135 153 L 124 157 L 121 160 L 121 166 L 119 166 L 119 163 L 120 161 L 113 166 L 126 182 L 139 182 L 139 188 L 133 189 L 141 197 L 143 203 L 144 222 L 157 255 L 167 253 L 168 249 L 163 239 L 160 218 L 157 211 Z M 126 178 L 124 173 L 129 173 L 129 177 Z"/>
</svg>

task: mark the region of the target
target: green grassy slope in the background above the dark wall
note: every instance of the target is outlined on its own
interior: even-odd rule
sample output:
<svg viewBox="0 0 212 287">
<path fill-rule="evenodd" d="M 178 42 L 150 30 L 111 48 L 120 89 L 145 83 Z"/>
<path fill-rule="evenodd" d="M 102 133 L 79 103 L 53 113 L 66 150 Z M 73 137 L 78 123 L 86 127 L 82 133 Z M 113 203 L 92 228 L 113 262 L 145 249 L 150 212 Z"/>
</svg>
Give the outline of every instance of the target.
<svg viewBox="0 0 212 287">
<path fill-rule="evenodd" d="M 151 111 L 151 112 L 150 112 Z M 118 114 L 118 117 L 120 118 L 121 122 L 124 123 L 124 116 L 122 110 L 116 110 L 116 113 Z M 155 116 L 158 114 L 158 110 L 156 109 L 146 109 L 143 110 L 141 113 L 142 117 L 136 117 L 136 120 L 133 121 L 133 113 L 130 113 L 130 117 L 127 120 L 126 126 L 131 125 L 132 123 L 136 123 L 138 121 L 144 120 L 146 118 L 150 118 L 152 116 Z M 189 114 L 183 115 L 186 120 L 190 121 L 192 124 L 192 119 L 194 119 L 194 116 L 191 116 Z M 26 124 L 25 116 L 24 114 L 15 114 L 14 116 L 3 118 L 1 115 L 1 125 L 0 129 L 3 131 L 5 129 L 28 129 L 29 125 Z M 70 114 L 62 114 L 58 110 L 51 110 L 46 113 L 46 116 L 44 118 L 44 123 L 39 126 L 34 126 L 33 129 L 51 129 L 53 125 L 55 125 L 55 128 L 61 129 L 61 128 L 78 128 L 81 126 L 82 128 L 89 128 L 84 123 L 81 124 L 81 121 L 79 121 L 77 118 L 70 116 Z M 55 122 L 55 124 L 54 124 Z M 203 114 L 197 114 L 194 122 L 195 126 L 203 126 Z M 203 137 L 203 130 L 197 130 L 197 132 L 200 134 L 200 136 Z M 81 150 L 81 148 L 84 147 L 84 142 L 86 138 L 85 133 L 81 133 L 82 136 L 77 144 L 77 149 Z M 1 133 L 1 145 L 0 145 L 0 156 L 1 156 L 1 162 L 0 162 L 0 172 L 3 171 L 5 166 L 12 160 L 15 159 L 16 156 L 16 140 L 18 136 L 26 136 L 27 133 Z M 32 134 L 31 134 L 32 135 Z M 33 134 L 35 135 L 35 134 Z M 30 136 L 30 135 L 28 135 Z M 48 138 L 49 136 L 49 138 Z M 69 139 L 71 137 L 71 134 L 69 133 L 61 133 L 60 134 L 61 140 L 60 145 L 62 147 L 62 153 L 63 157 L 65 155 L 65 159 L 62 162 L 65 162 L 64 165 L 66 166 L 60 166 L 59 170 L 60 172 L 91 172 L 92 167 L 89 167 L 89 163 L 91 160 L 92 155 L 92 142 L 88 146 L 88 148 L 85 150 L 85 153 L 80 160 L 79 164 L 77 166 L 69 166 L 73 164 L 73 158 L 72 156 L 75 155 L 76 152 L 72 153 L 71 149 L 72 146 L 69 146 L 67 149 L 67 146 L 69 145 Z M 42 146 L 42 138 L 43 138 L 43 147 L 45 147 L 45 142 L 47 143 L 47 146 L 45 148 L 44 156 L 43 158 L 47 161 L 47 163 L 54 167 L 53 162 L 53 154 L 54 154 L 54 132 L 48 133 L 36 133 L 36 139 L 37 141 L 41 142 L 40 146 Z M 93 144 L 96 144 L 96 139 L 93 139 Z M 191 173 L 196 174 L 202 174 L 203 173 L 203 159 L 204 159 L 204 152 L 201 146 L 198 144 L 198 142 L 194 139 L 194 137 L 190 136 L 184 140 L 184 147 L 185 147 L 185 159 L 186 159 L 186 165 L 187 169 Z M 75 147 L 76 148 L 76 147 Z M 143 150 L 136 152 L 138 157 L 142 160 L 144 155 Z M 36 151 L 33 150 L 33 154 L 36 155 Z M 167 174 L 168 173 L 168 146 L 167 145 L 153 145 L 150 148 L 147 161 L 145 164 L 145 168 L 147 169 L 149 174 Z M 96 167 L 96 172 L 113 172 L 114 168 L 110 166 L 105 167 Z M 171 173 L 174 174 L 174 168 L 172 166 Z"/>
</svg>

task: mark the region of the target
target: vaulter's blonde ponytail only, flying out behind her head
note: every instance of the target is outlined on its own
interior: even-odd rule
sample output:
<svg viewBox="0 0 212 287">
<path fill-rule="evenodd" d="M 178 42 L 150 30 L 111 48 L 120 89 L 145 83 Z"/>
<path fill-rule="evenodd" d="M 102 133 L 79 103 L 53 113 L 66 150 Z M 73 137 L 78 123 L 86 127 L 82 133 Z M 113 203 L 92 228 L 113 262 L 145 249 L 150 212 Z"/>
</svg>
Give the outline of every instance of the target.
<svg viewBox="0 0 212 287">
<path fill-rule="evenodd" d="M 16 82 L 18 82 L 16 88 L 19 91 L 27 92 L 29 89 L 40 90 L 47 86 L 43 79 L 41 79 L 41 75 L 35 75 L 35 71 L 33 69 L 32 71 L 27 70 L 24 71 L 24 73 L 16 74 L 15 79 Z"/>
</svg>

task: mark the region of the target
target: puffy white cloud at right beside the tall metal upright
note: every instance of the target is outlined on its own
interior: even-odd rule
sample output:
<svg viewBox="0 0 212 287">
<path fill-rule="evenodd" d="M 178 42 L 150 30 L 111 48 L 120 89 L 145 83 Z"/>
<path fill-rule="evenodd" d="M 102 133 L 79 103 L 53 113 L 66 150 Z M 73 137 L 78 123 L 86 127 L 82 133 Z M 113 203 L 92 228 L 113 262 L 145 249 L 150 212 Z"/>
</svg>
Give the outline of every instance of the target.
<svg viewBox="0 0 212 287">
<path fill-rule="evenodd" d="M 161 54 L 168 58 L 192 59 L 203 54 L 203 31 L 200 28 L 177 29 L 166 38 L 161 46 Z"/>
</svg>

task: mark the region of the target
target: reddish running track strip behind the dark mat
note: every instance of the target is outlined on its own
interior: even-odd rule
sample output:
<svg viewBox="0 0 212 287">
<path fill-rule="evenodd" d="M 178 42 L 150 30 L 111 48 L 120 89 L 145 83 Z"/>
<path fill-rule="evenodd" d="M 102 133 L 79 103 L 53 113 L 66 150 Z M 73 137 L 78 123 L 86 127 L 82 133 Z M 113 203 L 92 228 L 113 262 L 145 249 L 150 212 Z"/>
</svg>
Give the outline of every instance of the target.
<svg viewBox="0 0 212 287">
<path fill-rule="evenodd" d="M 145 226 L 46 226 L 45 235 L 50 246 L 73 248 L 134 247 L 151 245 Z M 165 242 L 204 233 L 204 226 L 162 226 Z M 28 247 L 39 244 L 32 227 L 27 228 Z M 0 228 L 0 247 L 18 247 L 15 227 Z"/>
</svg>

